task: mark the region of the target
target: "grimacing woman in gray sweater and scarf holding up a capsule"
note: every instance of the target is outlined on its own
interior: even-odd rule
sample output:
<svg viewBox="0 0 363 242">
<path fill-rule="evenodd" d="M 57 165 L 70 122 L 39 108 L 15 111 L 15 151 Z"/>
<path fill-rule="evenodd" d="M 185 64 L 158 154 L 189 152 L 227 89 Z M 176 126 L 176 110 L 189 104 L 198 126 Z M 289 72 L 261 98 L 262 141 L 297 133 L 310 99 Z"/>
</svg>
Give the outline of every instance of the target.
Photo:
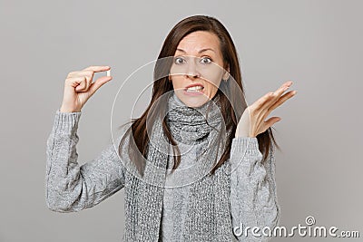
<svg viewBox="0 0 363 242">
<path fill-rule="evenodd" d="M 280 118 L 264 120 L 296 93 L 284 93 L 292 82 L 247 107 L 231 36 L 205 15 L 176 24 L 158 60 L 166 61 L 155 65 L 146 111 L 117 140 L 117 151 L 110 145 L 83 166 L 75 149 L 81 109 L 112 79 L 93 82 L 93 73 L 111 68 L 68 74 L 47 140 L 47 206 L 91 208 L 124 188 L 125 241 L 268 239 L 246 228 L 272 230 L 279 222 L 270 127 Z"/>
</svg>

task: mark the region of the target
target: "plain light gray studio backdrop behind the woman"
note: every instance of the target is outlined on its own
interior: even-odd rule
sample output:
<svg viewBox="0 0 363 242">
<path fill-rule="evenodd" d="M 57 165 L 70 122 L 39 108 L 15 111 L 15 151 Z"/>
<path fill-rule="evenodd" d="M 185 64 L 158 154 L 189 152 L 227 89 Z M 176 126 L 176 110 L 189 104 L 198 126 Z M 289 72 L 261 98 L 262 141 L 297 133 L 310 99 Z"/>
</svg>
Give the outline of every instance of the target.
<svg viewBox="0 0 363 242">
<path fill-rule="evenodd" d="M 121 241 L 123 190 L 78 213 L 46 208 L 45 141 L 67 73 L 110 65 L 113 80 L 86 103 L 79 124 L 79 162 L 93 160 L 111 139 L 122 83 L 155 60 L 172 26 L 190 15 L 227 27 L 250 104 L 289 80 L 298 91 L 270 114 L 282 118 L 274 125 L 280 226 L 313 216 L 316 226 L 362 237 L 362 9 L 358 0 L 1 1 L 0 241 Z M 149 81 L 132 83 L 134 90 Z M 132 85 L 125 92 L 137 94 Z M 128 108 L 119 110 L 123 119 Z"/>
</svg>

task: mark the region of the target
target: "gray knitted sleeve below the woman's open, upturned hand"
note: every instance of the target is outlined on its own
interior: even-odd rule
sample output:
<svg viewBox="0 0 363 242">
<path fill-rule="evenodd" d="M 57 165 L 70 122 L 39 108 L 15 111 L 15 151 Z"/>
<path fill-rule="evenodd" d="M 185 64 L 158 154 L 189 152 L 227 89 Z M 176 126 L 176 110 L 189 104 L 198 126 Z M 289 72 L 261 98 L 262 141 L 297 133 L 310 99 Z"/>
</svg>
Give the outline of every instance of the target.
<svg viewBox="0 0 363 242">
<path fill-rule="evenodd" d="M 231 216 L 233 234 L 239 241 L 267 241 L 269 228 L 273 231 L 279 225 L 274 152 L 272 144 L 269 159 L 262 164 L 256 137 L 232 140 Z"/>
</svg>

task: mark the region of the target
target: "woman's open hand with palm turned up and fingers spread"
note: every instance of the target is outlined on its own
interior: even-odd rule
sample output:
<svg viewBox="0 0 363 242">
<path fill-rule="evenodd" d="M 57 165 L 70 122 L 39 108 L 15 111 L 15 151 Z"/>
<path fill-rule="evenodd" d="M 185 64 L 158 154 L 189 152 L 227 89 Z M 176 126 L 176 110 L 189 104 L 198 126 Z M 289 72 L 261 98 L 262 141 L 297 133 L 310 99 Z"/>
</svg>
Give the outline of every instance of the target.
<svg viewBox="0 0 363 242">
<path fill-rule="evenodd" d="M 268 92 L 247 107 L 237 125 L 235 137 L 256 137 L 258 134 L 267 131 L 275 122 L 280 121 L 280 117 L 271 117 L 267 121 L 265 119 L 271 111 L 296 94 L 296 91 L 283 94 L 291 84 L 292 82 L 283 83 L 278 90 Z"/>
</svg>

